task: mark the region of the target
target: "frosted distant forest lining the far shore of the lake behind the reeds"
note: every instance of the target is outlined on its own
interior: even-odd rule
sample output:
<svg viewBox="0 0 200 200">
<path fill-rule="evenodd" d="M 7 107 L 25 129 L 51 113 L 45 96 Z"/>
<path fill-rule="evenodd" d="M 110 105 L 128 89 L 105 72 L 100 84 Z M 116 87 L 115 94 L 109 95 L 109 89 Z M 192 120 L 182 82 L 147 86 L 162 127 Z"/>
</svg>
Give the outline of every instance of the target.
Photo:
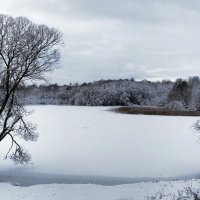
<svg viewBox="0 0 200 200">
<path fill-rule="evenodd" d="M 1 88 L 3 90 L 3 88 Z M 156 106 L 176 110 L 200 110 L 200 79 L 175 82 L 134 79 L 100 80 L 58 86 L 21 86 L 17 93 L 25 104 L 78 106 Z"/>
</svg>

